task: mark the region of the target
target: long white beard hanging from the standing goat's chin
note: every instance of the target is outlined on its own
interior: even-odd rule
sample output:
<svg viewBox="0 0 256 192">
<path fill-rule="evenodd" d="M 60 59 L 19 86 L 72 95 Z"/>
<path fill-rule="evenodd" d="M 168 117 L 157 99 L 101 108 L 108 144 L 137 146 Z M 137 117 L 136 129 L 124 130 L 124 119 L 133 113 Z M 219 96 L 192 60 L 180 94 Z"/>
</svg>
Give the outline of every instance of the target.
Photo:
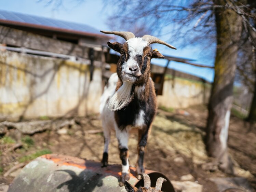
<svg viewBox="0 0 256 192">
<path fill-rule="evenodd" d="M 132 82 L 124 82 L 117 92 L 109 99 L 108 107 L 111 111 L 120 110 L 130 103 L 133 97 L 133 95 L 131 95 L 132 86 Z"/>
</svg>

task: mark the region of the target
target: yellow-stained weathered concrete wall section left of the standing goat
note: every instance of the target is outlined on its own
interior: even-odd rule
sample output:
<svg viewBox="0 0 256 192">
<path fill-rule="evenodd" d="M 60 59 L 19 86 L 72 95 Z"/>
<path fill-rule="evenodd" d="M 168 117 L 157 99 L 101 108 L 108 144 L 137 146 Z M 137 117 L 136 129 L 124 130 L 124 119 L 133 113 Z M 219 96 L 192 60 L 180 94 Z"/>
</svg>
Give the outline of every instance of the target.
<svg viewBox="0 0 256 192">
<path fill-rule="evenodd" d="M 99 111 L 101 70 L 68 60 L 0 51 L 0 118 Z"/>
</svg>

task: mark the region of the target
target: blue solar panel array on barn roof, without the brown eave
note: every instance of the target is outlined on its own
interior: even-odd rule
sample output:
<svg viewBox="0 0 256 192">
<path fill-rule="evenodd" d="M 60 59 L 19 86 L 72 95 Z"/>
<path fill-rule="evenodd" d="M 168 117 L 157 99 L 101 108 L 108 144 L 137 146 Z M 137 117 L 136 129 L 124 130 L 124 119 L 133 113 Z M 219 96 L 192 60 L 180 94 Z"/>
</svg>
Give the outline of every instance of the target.
<svg viewBox="0 0 256 192">
<path fill-rule="evenodd" d="M 0 10 L 0 19 L 100 34 L 99 30 L 85 24 L 66 22 L 63 20 L 15 13 L 11 11 Z"/>
</svg>

